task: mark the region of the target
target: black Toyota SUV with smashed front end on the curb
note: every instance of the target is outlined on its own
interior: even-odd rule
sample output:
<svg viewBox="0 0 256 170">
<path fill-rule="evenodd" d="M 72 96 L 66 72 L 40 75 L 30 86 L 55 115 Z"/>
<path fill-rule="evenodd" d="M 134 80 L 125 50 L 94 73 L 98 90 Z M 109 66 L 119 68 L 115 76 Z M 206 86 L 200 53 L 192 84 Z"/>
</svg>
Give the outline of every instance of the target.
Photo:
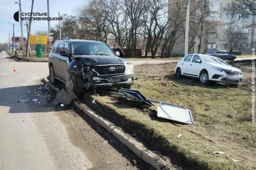
<svg viewBox="0 0 256 170">
<path fill-rule="evenodd" d="M 66 84 L 71 76 L 77 96 L 82 95 L 83 88 L 131 88 L 134 83 L 133 64 L 97 40 L 57 39 L 48 66 L 50 82 L 54 84 L 58 79 Z"/>
</svg>

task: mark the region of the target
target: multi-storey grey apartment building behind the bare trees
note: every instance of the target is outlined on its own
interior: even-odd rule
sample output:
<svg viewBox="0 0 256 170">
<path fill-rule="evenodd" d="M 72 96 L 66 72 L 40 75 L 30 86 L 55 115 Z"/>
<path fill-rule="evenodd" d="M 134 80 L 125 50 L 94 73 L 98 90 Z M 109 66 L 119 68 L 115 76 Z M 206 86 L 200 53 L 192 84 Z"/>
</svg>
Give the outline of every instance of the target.
<svg viewBox="0 0 256 170">
<path fill-rule="evenodd" d="M 204 25 L 204 37 L 200 53 L 205 53 L 210 49 L 222 49 L 227 50 L 224 46 L 224 33 L 230 27 L 236 28 L 236 30 L 242 30 L 247 34 L 247 40 L 241 44 L 239 49 L 236 49 L 236 53 L 250 54 L 251 49 L 256 48 L 256 29 L 252 26 L 256 23 L 256 16 L 243 16 L 240 14 L 229 14 L 224 11 L 224 8 L 231 6 L 234 0 L 210 0 L 209 9 L 210 12 L 206 17 L 208 22 Z M 235 32 L 234 32 L 235 33 Z M 194 48 L 189 50 L 189 53 L 197 53 L 199 47 L 199 35 L 195 38 Z M 180 37 L 175 44 L 172 55 L 184 55 L 184 36 Z"/>
</svg>

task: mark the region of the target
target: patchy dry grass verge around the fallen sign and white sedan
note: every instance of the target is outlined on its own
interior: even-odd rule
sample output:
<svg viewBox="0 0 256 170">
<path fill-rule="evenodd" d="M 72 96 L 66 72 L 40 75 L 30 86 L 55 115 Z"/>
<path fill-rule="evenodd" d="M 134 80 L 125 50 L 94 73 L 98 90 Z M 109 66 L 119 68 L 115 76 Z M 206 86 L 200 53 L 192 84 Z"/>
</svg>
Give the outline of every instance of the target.
<svg viewBox="0 0 256 170">
<path fill-rule="evenodd" d="M 248 63 L 234 65 L 244 76 L 243 84 L 237 88 L 217 83 L 204 86 L 192 78 L 176 79 L 175 63 L 135 66 L 138 79 L 133 88 L 148 98 L 188 107 L 194 125 L 158 118 L 156 107 L 144 107 L 113 95 L 90 95 L 96 99 L 96 105 L 84 102 L 104 110 L 107 114 L 101 114 L 109 121 L 143 138 L 183 169 L 255 169 L 256 124 L 250 122 L 250 68 Z M 177 138 L 180 133 L 182 137 Z"/>
</svg>

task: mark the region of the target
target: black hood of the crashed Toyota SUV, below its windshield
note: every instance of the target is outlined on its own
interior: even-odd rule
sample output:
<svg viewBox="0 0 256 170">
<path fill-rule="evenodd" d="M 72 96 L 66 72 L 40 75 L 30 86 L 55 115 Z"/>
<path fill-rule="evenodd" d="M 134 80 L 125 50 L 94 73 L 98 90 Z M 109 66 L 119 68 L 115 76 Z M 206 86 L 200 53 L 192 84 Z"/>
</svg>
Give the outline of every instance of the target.
<svg viewBox="0 0 256 170">
<path fill-rule="evenodd" d="M 75 58 L 80 58 L 84 61 L 95 63 L 96 65 L 106 65 L 106 64 L 123 64 L 123 63 L 129 63 L 130 61 L 119 58 L 116 56 L 101 56 L 101 55 L 79 55 Z"/>
</svg>

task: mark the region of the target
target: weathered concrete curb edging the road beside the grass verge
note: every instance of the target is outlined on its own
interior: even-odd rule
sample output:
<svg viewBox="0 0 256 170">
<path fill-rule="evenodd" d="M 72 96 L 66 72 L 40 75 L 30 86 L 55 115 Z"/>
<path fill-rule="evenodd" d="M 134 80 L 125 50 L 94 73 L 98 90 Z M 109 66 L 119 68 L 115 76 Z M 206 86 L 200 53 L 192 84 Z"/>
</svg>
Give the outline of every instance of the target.
<svg viewBox="0 0 256 170">
<path fill-rule="evenodd" d="M 59 89 L 53 86 L 47 80 L 46 77 L 43 78 L 43 81 L 49 86 L 51 86 L 57 92 L 59 91 Z M 144 147 L 143 143 L 137 141 L 131 135 L 124 133 L 122 130 L 114 126 L 114 124 L 112 124 L 108 120 L 97 115 L 95 112 L 93 112 L 93 110 L 87 107 L 86 104 L 82 103 L 79 100 L 74 101 L 74 104 L 76 105 L 77 108 L 81 109 L 87 116 L 93 119 L 93 121 L 95 121 L 97 124 L 104 127 L 109 133 L 111 133 L 114 137 L 116 137 L 122 144 L 128 147 L 135 155 L 137 155 L 143 161 L 150 164 L 156 170 L 167 170 L 167 169 L 172 170 L 173 169 L 171 164 L 169 164 L 167 161 L 160 158 L 160 156 L 158 156 L 156 153 L 153 153 L 152 151 Z"/>
</svg>

